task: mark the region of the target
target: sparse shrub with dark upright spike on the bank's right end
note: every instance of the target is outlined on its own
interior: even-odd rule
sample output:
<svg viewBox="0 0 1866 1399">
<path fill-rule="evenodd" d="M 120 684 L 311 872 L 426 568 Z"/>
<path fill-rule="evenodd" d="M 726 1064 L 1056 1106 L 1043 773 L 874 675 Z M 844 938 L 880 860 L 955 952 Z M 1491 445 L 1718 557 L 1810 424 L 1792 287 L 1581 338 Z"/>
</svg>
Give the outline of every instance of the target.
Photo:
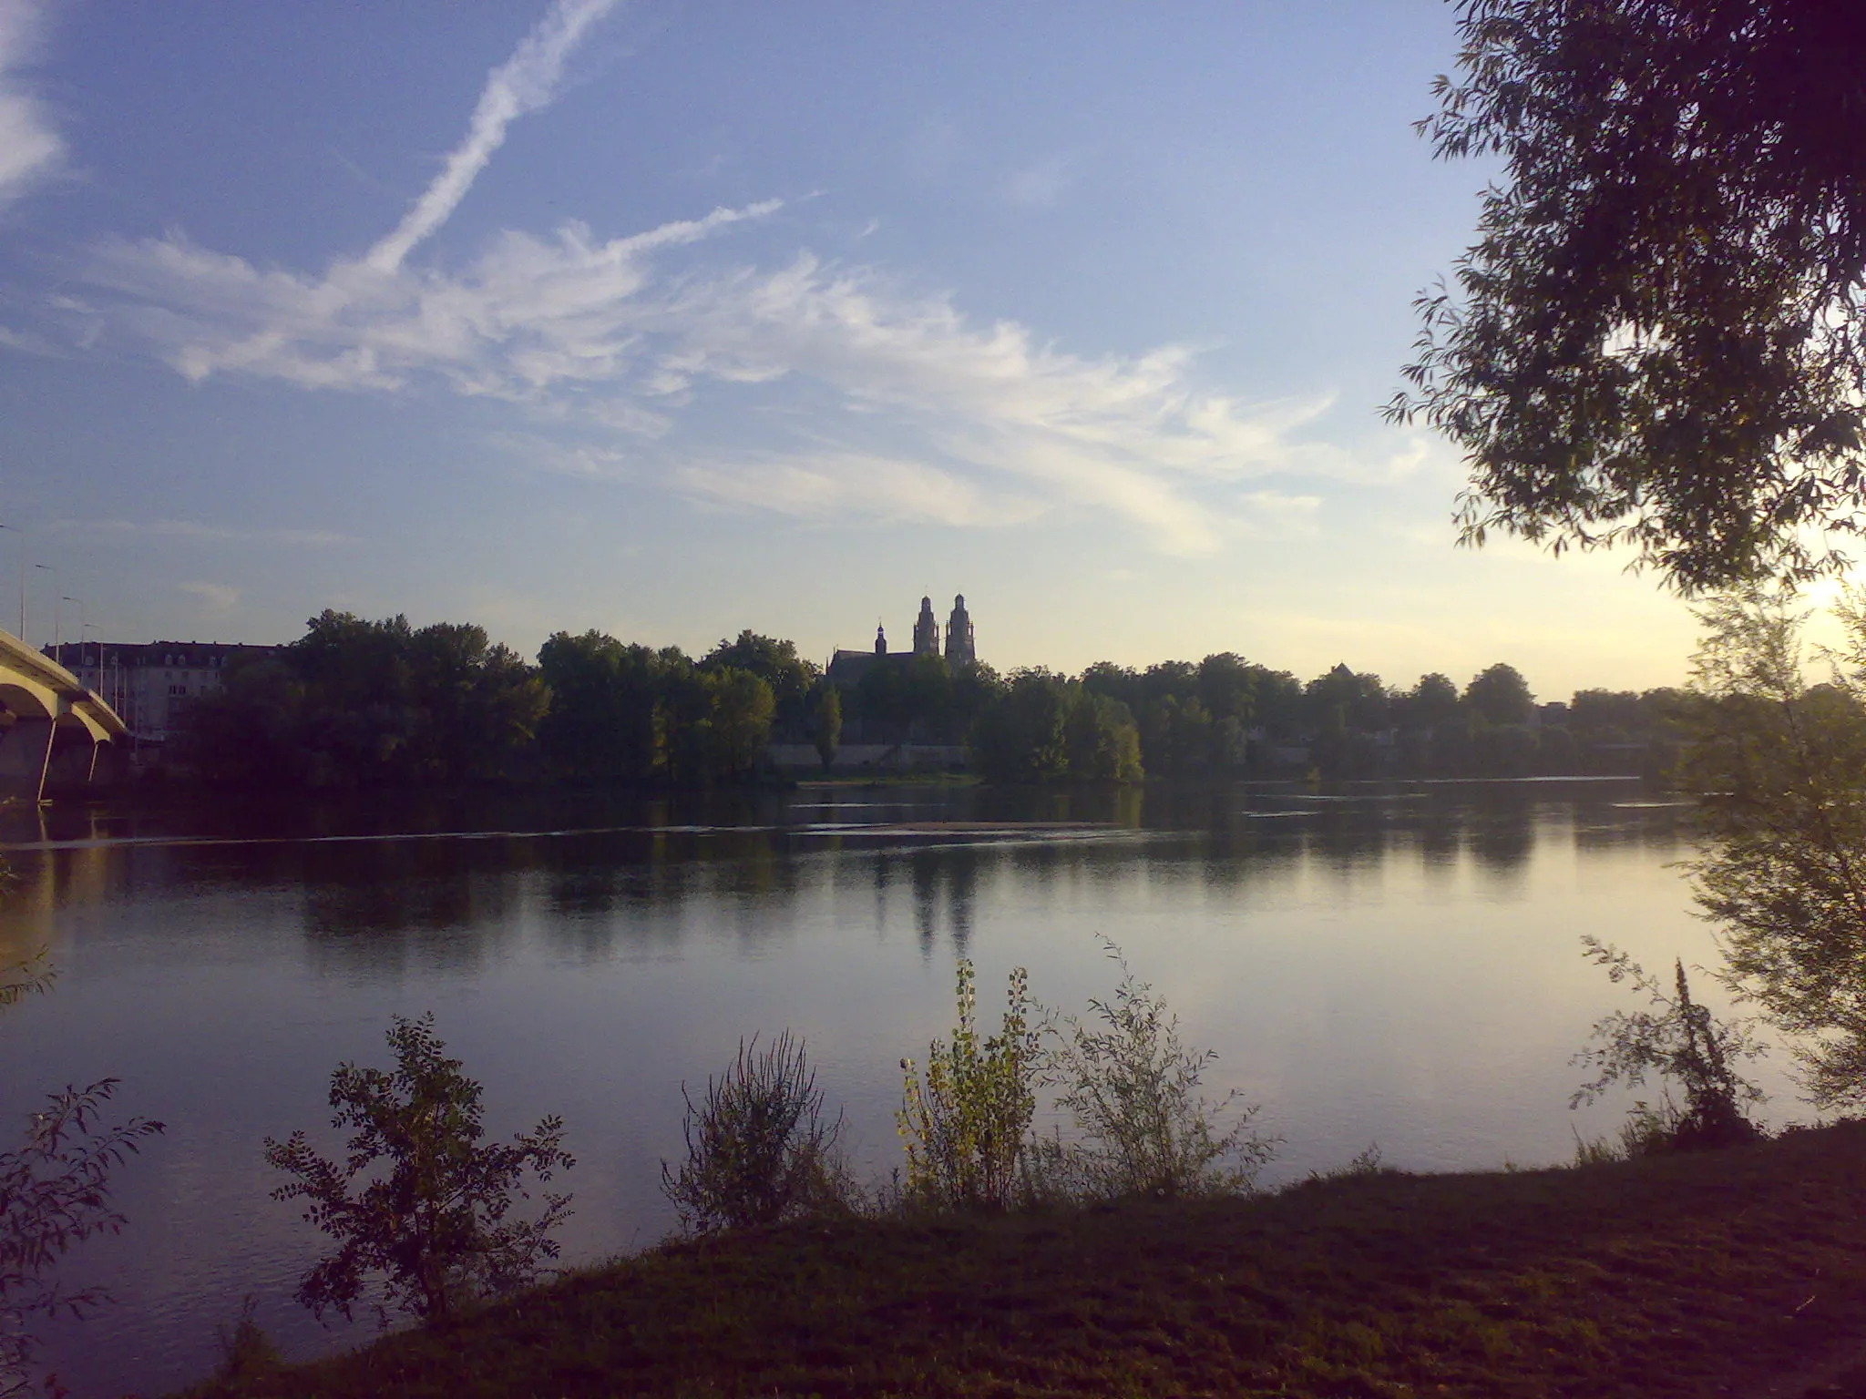
<svg viewBox="0 0 1866 1399">
<path fill-rule="evenodd" d="M 1575 1089 L 1567 1106 L 1594 1102 L 1612 1084 L 1638 1087 L 1653 1074 L 1664 1091 L 1655 1106 L 1644 1101 L 1633 1104 L 1620 1134 L 1623 1155 L 1728 1147 L 1762 1138 L 1763 1130 L 1745 1114 L 1745 1104 L 1762 1102 L 1762 1089 L 1732 1067 L 1732 1060 L 1754 1060 L 1763 1052 L 1747 1026 L 1719 1020 L 1691 998 L 1683 959 L 1676 963 L 1676 994 L 1666 996 L 1659 979 L 1648 976 L 1629 953 L 1594 936 L 1581 942 L 1588 961 L 1605 966 L 1614 983 L 1631 981 L 1653 1009 L 1614 1011 L 1595 1022 L 1594 1039 L 1599 1043 L 1573 1061 L 1599 1074 Z M 1674 1102 L 1672 1084 L 1683 1093 L 1683 1106 Z"/>
</svg>

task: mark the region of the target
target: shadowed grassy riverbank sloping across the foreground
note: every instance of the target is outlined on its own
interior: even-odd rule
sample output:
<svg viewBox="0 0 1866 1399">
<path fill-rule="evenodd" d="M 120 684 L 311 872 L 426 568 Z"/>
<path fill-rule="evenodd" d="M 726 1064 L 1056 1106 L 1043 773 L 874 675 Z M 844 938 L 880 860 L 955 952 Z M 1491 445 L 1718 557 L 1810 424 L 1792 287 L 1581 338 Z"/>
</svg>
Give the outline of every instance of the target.
<svg viewBox="0 0 1866 1399">
<path fill-rule="evenodd" d="M 670 1244 L 192 1399 L 1706 1395 L 1866 1328 L 1866 1123 L 1581 1170 Z"/>
</svg>

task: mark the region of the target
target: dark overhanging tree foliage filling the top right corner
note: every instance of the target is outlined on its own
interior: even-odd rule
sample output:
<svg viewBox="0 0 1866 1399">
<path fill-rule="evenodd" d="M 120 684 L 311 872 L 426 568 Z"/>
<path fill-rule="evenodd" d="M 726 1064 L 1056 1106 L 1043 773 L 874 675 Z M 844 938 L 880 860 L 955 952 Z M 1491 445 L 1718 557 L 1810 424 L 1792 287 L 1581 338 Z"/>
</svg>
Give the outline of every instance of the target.
<svg viewBox="0 0 1866 1399">
<path fill-rule="evenodd" d="M 1422 123 L 1500 159 L 1413 388 L 1470 541 L 1629 543 L 1679 586 L 1836 563 L 1866 507 L 1866 24 L 1834 0 L 1461 0 Z"/>
</svg>

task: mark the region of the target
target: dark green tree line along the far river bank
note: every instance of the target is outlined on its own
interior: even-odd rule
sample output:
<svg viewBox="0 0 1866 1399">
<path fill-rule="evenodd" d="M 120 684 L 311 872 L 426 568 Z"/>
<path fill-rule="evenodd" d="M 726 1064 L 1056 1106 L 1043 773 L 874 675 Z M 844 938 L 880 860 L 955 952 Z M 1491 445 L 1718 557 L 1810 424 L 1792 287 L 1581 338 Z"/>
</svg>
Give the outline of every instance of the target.
<svg viewBox="0 0 1866 1399">
<path fill-rule="evenodd" d="M 838 683 L 752 630 L 700 657 L 556 632 L 530 662 L 478 625 L 327 610 L 194 698 L 175 757 L 205 782 L 274 787 L 705 785 L 767 772 L 773 742 L 814 744 L 825 769 L 845 742 L 963 744 L 989 782 L 1661 772 L 1683 700 L 1538 707 L 1508 664 L 1463 688 L 1347 664 L 1304 683 L 1230 651 L 1080 675 L 886 657 Z"/>
</svg>

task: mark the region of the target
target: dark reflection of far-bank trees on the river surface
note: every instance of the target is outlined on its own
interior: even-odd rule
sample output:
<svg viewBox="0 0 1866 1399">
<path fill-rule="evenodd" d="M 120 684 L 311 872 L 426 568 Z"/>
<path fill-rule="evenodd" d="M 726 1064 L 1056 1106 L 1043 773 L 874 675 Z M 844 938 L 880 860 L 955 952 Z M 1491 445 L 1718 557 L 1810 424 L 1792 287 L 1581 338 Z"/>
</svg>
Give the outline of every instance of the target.
<svg viewBox="0 0 1866 1399">
<path fill-rule="evenodd" d="M 1564 791 L 1424 783 L 1327 795 L 1347 800 L 1232 783 L 1155 783 L 1144 793 L 860 787 L 797 798 L 677 793 L 651 802 L 597 793 L 558 806 L 519 795 L 500 815 L 476 806 L 478 798 L 450 806 L 427 796 L 420 815 L 440 830 L 517 830 L 522 817 L 530 830 L 560 834 L 343 839 L 390 817 L 334 808 L 293 817 L 297 832 L 325 826 L 340 836 L 325 841 L 32 851 L 15 858 L 24 882 L 0 918 L 0 942 L 15 923 L 37 942 L 47 940 L 39 929 L 49 929 L 67 905 L 187 888 L 233 899 L 244 892 L 302 892 L 302 921 L 293 931 L 308 940 L 313 964 L 336 972 L 474 968 L 526 936 L 526 929 L 578 961 L 664 953 L 696 933 L 750 948 L 784 936 L 804 901 L 827 903 L 838 920 L 853 918 L 855 929 L 866 923 L 877 933 L 890 927 L 890 916 L 896 923 L 907 918 L 927 955 L 946 940 L 957 955 L 972 955 L 974 940 L 987 931 L 1015 935 L 983 912 L 982 890 L 993 873 L 1004 875 L 1000 882 L 1026 903 L 1088 897 L 1092 907 L 1112 905 L 1129 895 L 1135 880 L 1148 880 L 1166 901 L 1187 888 L 1243 899 L 1252 884 L 1280 884 L 1299 869 L 1321 888 L 1347 888 L 1362 871 L 1381 869 L 1396 849 L 1418 851 L 1427 871 L 1444 873 L 1455 871 L 1469 849 L 1480 869 L 1511 875 L 1526 867 L 1538 834 L 1553 836 L 1562 824 L 1573 826 L 1581 851 L 1636 845 L 1672 856 L 1691 819 L 1681 808 L 1616 806 L 1636 798 L 1633 785 Z M 791 800 L 801 810 L 787 810 Z M 1136 830 L 1142 811 L 1146 826 Z M 1284 811 L 1297 815 L 1276 815 Z M 166 830 L 138 815 L 134 821 L 149 824 L 131 830 L 174 832 L 179 817 L 164 819 Z M 722 819 L 746 824 L 722 826 Z M 1108 828 L 1023 830 L 1011 838 L 937 828 L 909 834 L 898 826 L 834 836 L 802 830 L 838 819 L 1075 819 Z M 614 824 L 578 830 L 580 823 Z M 104 824 L 73 817 L 54 839 L 123 830 L 123 817 Z M 17 839 L 43 839 L 37 817 Z"/>
</svg>

